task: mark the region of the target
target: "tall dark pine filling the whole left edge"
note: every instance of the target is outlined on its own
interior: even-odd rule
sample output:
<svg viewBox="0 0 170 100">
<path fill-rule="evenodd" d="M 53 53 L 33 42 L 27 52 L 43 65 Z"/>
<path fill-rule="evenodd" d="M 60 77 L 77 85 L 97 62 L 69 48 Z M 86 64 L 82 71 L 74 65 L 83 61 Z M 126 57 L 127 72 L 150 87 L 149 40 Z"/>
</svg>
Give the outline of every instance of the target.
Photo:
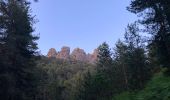
<svg viewBox="0 0 170 100">
<path fill-rule="evenodd" d="M 33 100 L 37 36 L 26 0 L 0 1 L 0 99 Z"/>
</svg>

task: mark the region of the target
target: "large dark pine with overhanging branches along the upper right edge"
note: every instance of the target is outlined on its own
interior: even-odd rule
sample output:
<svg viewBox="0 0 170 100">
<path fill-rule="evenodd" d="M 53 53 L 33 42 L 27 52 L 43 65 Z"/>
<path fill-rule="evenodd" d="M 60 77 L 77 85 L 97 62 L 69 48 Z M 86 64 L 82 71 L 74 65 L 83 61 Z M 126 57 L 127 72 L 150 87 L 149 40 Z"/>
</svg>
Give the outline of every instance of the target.
<svg viewBox="0 0 170 100">
<path fill-rule="evenodd" d="M 128 10 L 140 15 L 140 23 L 152 35 L 149 46 L 156 49 L 160 65 L 170 69 L 170 1 L 132 0 Z"/>
</svg>

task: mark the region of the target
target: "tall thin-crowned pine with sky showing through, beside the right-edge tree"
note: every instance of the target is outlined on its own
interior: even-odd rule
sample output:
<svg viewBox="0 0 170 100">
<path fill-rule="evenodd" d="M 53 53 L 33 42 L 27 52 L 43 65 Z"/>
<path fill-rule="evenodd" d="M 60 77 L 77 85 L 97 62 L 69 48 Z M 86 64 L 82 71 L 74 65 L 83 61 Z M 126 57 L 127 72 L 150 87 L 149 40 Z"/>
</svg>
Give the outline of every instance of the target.
<svg viewBox="0 0 170 100">
<path fill-rule="evenodd" d="M 130 89 L 141 89 L 150 78 L 149 62 L 137 23 L 130 24 L 125 33 L 127 44 L 128 84 Z"/>
</svg>

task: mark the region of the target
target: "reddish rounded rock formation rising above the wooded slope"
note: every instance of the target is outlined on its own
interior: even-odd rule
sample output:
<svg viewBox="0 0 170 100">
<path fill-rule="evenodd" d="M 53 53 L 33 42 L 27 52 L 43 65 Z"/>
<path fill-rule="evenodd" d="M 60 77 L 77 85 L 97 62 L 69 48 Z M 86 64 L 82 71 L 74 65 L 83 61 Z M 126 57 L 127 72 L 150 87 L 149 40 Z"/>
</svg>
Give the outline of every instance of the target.
<svg viewBox="0 0 170 100">
<path fill-rule="evenodd" d="M 51 48 L 47 54 L 47 57 L 56 57 L 57 59 L 64 60 L 76 60 L 88 63 L 95 63 L 97 60 L 98 50 L 95 49 L 92 54 L 86 54 L 83 49 L 75 48 L 72 53 L 70 53 L 69 47 L 62 47 L 61 51 L 57 52 L 54 48 Z"/>
</svg>

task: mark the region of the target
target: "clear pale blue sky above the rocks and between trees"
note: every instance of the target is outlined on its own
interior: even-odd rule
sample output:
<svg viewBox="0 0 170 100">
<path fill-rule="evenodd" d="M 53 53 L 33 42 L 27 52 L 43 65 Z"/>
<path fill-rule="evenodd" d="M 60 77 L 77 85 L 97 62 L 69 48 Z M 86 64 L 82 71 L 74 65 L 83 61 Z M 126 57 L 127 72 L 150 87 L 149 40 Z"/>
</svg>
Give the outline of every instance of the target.
<svg viewBox="0 0 170 100">
<path fill-rule="evenodd" d="M 50 48 L 82 48 L 92 53 L 103 42 L 111 48 L 123 38 L 128 23 L 136 15 L 126 7 L 130 0 L 39 0 L 32 3 L 32 14 L 38 22 L 39 51 L 46 55 Z"/>
</svg>

